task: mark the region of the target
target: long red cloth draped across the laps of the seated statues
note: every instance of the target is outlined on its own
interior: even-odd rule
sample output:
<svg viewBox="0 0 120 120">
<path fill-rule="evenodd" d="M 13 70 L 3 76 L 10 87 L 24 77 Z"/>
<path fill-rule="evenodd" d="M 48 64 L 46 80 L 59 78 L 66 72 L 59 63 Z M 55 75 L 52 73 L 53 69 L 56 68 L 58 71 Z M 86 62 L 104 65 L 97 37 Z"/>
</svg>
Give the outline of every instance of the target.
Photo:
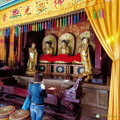
<svg viewBox="0 0 120 120">
<path fill-rule="evenodd" d="M 74 60 L 81 62 L 81 57 L 80 57 L 80 53 L 76 54 L 75 56 L 69 56 L 66 54 L 59 54 L 57 56 L 52 56 L 51 54 L 47 54 L 47 55 L 41 55 L 39 60 L 45 60 L 49 62 L 63 61 L 70 63 Z"/>
</svg>

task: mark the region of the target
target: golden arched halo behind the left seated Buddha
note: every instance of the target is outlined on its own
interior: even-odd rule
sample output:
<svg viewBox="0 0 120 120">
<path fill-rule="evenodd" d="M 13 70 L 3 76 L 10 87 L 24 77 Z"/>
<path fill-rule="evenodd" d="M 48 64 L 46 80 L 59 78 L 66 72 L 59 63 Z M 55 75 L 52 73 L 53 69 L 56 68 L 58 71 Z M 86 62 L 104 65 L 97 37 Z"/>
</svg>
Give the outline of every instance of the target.
<svg viewBox="0 0 120 120">
<path fill-rule="evenodd" d="M 57 38 L 54 35 L 47 35 L 46 37 L 44 37 L 43 41 L 42 41 L 42 51 L 44 51 L 46 45 L 46 42 L 50 42 L 51 43 L 51 47 L 53 47 L 54 49 L 54 55 L 56 55 L 56 44 L 57 44 Z"/>
</svg>

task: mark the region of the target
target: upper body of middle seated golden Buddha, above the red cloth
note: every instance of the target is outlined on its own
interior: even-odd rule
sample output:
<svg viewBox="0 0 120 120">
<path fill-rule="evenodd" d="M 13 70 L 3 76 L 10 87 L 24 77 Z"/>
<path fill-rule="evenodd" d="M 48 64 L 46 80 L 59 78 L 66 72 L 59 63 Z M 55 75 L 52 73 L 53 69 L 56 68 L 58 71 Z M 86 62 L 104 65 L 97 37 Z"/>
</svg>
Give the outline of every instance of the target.
<svg viewBox="0 0 120 120">
<path fill-rule="evenodd" d="M 66 40 L 62 40 L 62 46 L 60 47 L 60 54 L 70 55 L 70 47 Z"/>
</svg>

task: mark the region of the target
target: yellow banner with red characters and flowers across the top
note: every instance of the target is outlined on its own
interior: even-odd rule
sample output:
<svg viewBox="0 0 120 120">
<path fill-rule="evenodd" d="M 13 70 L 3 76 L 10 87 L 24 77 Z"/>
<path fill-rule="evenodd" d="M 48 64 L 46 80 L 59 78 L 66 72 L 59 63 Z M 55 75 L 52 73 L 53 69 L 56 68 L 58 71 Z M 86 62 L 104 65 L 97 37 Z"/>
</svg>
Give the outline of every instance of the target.
<svg viewBox="0 0 120 120">
<path fill-rule="evenodd" d="M 27 0 L 0 12 L 0 28 L 58 16 L 102 2 L 104 0 Z"/>
</svg>

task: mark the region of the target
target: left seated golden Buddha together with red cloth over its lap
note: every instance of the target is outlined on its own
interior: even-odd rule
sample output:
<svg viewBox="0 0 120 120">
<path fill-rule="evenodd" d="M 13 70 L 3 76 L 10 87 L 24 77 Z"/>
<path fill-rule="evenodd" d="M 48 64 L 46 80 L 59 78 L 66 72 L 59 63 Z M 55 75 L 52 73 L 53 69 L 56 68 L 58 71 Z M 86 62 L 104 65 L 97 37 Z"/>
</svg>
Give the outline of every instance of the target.
<svg viewBox="0 0 120 120">
<path fill-rule="evenodd" d="M 51 58 L 54 54 L 54 48 L 51 45 L 52 45 L 52 42 L 50 41 L 45 42 L 45 48 L 43 49 L 43 54 L 40 56 L 41 63 L 52 62 Z"/>
</svg>

